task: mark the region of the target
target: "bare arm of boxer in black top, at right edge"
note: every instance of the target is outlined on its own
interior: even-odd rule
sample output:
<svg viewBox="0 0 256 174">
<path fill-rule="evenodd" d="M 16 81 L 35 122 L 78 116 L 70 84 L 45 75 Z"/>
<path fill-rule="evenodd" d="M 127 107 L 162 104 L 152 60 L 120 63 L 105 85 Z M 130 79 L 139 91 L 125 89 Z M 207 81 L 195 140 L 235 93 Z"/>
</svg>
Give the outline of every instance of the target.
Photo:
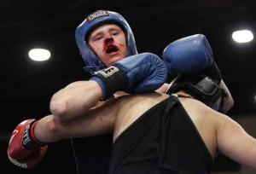
<svg viewBox="0 0 256 174">
<path fill-rule="evenodd" d="M 218 113 L 221 114 L 221 113 Z M 256 139 L 226 115 L 218 120 L 218 150 L 236 162 L 256 169 Z"/>
</svg>

